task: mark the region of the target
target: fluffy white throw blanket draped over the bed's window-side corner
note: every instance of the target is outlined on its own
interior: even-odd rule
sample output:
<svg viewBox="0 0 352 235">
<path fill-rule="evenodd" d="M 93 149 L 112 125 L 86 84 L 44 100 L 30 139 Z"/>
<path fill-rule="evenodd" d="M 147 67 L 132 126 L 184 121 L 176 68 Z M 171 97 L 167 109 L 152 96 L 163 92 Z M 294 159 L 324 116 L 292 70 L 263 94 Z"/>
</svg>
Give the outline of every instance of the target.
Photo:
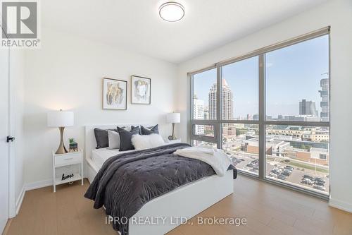
<svg viewBox="0 0 352 235">
<path fill-rule="evenodd" d="M 232 164 L 230 157 L 227 157 L 224 151 L 209 147 L 186 147 L 182 150 L 176 150 L 174 155 L 199 159 L 213 167 L 218 176 L 225 176 L 229 166 Z"/>
</svg>

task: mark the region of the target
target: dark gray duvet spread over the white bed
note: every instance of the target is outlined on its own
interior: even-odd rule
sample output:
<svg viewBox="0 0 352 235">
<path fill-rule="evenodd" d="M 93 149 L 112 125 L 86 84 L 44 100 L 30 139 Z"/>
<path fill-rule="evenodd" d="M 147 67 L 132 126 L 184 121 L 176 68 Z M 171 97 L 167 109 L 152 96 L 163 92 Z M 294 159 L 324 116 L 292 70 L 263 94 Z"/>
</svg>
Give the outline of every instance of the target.
<svg viewBox="0 0 352 235">
<path fill-rule="evenodd" d="M 103 164 L 84 197 L 94 208 L 106 207 L 106 215 L 130 218 L 149 200 L 186 183 L 215 174 L 210 165 L 197 159 L 173 155 L 185 143 L 163 145 L 111 157 Z M 234 169 L 234 179 L 237 170 Z M 128 223 L 113 223 L 113 229 L 128 234 Z M 120 220 L 119 220 L 120 221 Z"/>
</svg>

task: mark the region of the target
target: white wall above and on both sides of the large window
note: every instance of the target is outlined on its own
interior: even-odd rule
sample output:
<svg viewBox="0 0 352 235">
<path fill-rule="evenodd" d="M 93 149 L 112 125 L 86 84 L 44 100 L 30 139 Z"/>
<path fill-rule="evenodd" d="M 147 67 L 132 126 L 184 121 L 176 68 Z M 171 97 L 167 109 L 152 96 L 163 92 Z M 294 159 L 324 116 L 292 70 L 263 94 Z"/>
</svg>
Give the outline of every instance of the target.
<svg viewBox="0 0 352 235">
<path fill-rule="evenodd" d="M 187 72 L 196 71 L 218 61 L 240 56 L 255 49 L 331 25 L 331 144 L 330 144 L 330 203 L 352 212 L 352 1 L 333 0 L 253 33 L 241 40 L 186 61 L 178 70 L 177 109 L 182 123 L 177 134 L 187 138 L 189 120 L 189 80 Z M 187 88 L 187 89 L 186 89 Z"/>
</svg>

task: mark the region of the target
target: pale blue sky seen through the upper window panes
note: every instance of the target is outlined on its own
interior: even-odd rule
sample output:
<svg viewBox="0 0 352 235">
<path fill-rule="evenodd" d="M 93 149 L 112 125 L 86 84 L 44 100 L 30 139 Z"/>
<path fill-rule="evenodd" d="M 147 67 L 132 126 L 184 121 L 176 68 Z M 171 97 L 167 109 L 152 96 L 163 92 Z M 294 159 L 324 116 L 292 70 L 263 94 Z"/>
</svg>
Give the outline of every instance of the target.
<svg viewBox="0 0 352 235">
<path fill-rule="evenodd" d="M 329 72 L 329 37 L 324 35 L 265 54 L 266 115 L 298 115 L 299 101 L 313 100 L 320 114 L 320 79 Z M 258 56 L 222 67 L 234 95 L 233 117 L 258 114 Z M 208 104 L 216 69 L 194 75 L 194 94 Z"/>
</svg>

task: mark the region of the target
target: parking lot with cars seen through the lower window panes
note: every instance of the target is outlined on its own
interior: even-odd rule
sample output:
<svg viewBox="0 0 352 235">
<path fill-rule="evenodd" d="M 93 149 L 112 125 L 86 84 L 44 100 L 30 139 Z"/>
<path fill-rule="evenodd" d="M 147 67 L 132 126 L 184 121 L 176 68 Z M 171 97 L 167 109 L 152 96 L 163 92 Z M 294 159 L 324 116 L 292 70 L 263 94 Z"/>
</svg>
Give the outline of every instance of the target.
<svg viewBox="0 0 352 235">
<path fill-rule="evenodd" d="M 282 162 L 280 159 L 275 159 L 275 157 L 270 156 L 270 158 L 274 158 L 274 160 L 272 161 L 268 159 L 266 162 L 266 176 L 268 179 L 275 179 L 276 181 L 282 181 L 296 186 L 298 185 L 320 193 L 328 193 L 329 178 L 327 174 L 320 171 L 313 171 L 311 169 L 304 169 L 302 167 L 295 167 L 289 163 Z M 235 153 L 232 155 L 232 162 L 234 162 L 237 169 L 258 175 L 258 155 L 251 155 L 243 152 L 238 154 Z M 287 176 L 282 175 L 281 173 L 283 171 L 289 172 L 289 170 L 285 170 L 287 168 L 291 169 L 291 173 L 287 173 Z M 272 176 L 269 176 L 270 172 L 273 170 L 276 171 L 277 174 L 272 173 Z M 279 176 L 280 174 L 281 176 Z M 278 179 L 278 176 L 281 179 Z M 307 183 L 311 184 L 309 185 Z"/>
</svg>

